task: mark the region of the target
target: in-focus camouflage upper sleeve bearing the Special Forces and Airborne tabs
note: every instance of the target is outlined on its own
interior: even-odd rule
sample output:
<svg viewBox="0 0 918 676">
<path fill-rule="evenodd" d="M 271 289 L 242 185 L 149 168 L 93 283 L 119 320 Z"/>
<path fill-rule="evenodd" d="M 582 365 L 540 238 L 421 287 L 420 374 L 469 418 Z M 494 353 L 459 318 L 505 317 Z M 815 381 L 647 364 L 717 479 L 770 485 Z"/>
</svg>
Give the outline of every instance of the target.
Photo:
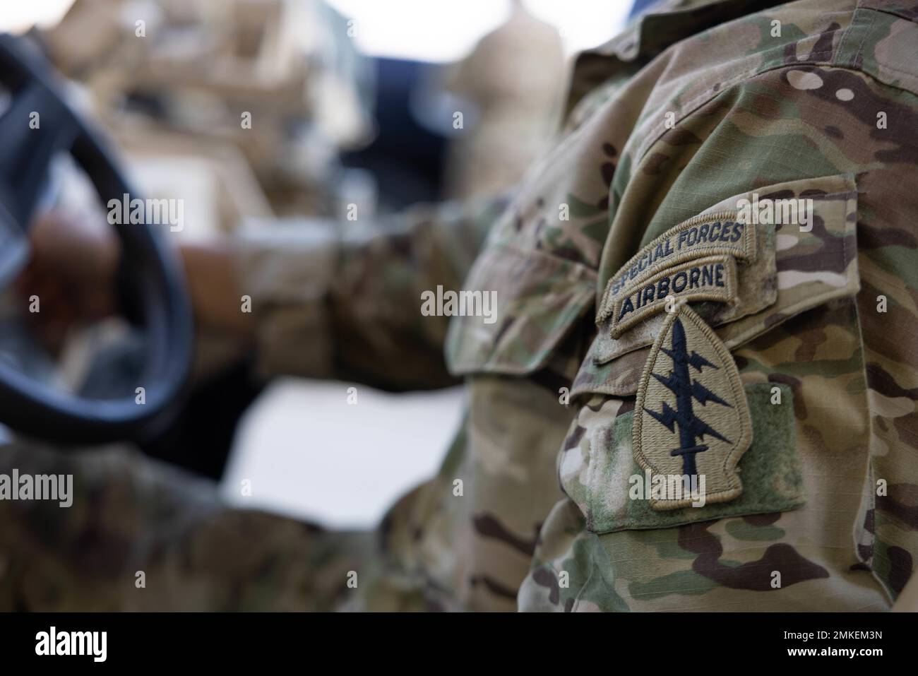
<svg viewBox="0 0 918 676">
<path fill-rule="evenodd" d="M 633 134 L 627 148 L 637 148 L 639 159 L 622 161 L 611 182 L 602 289 L 633 275 L 639 259 L 632 256 L 666 242 L 679 224 L 706 213 L 733 218 L 741 204 L 759 200 L 758 215 L 746 222 L 767 242 L 774 272 L 756 279 L 755 265 L 739 264 L 736 314 L 710 315 L 711 333 L 732 356 L 724 363 L 733 362 L 742 383 L 737 401 L 750 411 L 751 445 L 738 464 L 743 492 L 699 507 L 651 504 L 652 470 L 640 463 L 648 453 L 671 457 L 681 443 L 682 423 L 669 416 L 681 415 L 675 392 L 682 386 L 670 380 L 677 362 L 666 361 L 665 350 L 675 354 L 692 341 L 669 340 L 649 315 L 632 330 L 633 344 L 621 341 L 628 330 L 613 335 L 612 321 L 626 316 L 622 301 L 600 316 L 571 388 L 577 417 L 558 463 L 567 499 L 543 525 L 522 609 L 889 608 L 914 574 L 918 551 L 918 531 L 902 516 L 918 485 L 918 249 L 910 216 L 918 212 L 918 155 L 902 133 L 918 119 L 915 106 L 911 93 L 869 73 L 791 64 L 722 90 L 672 130 Z M 647 119 L 656 125 L 663 117 Z M 878 126 L 887 118 L 894 124 Z M 800 218 L 785 210 L 792 204 Z M 656 266 L 663 273 L 668 249 L 663 244 Z M 640 261 L 654 265 L 651 254 Z M 748 303 L 766 307 L 747 311 Z M 654 339 L 649 348 L 645 335 Z M 659 354 L 666 357 L 657 367 Z M 702 366 L 691 366 L 693 388 L 709 370 Z M 715 369 L 718 385 L 702 387 L 728 391 L 728 369 L 709 373 Z M 662 387 L 648 385 L 655 382 Z M 708 424 L 717 407 L 701 399 L 689 416 Z M 742 438 L 742 426 L 734 429 L 739 434 L 727 436 Z M 710 438 L 706 444 L 713 450 Z M 681 468 L 653 473 L 681 476 Z M 712 474 L 700 473 L 709 487 Z"/>
</svg>

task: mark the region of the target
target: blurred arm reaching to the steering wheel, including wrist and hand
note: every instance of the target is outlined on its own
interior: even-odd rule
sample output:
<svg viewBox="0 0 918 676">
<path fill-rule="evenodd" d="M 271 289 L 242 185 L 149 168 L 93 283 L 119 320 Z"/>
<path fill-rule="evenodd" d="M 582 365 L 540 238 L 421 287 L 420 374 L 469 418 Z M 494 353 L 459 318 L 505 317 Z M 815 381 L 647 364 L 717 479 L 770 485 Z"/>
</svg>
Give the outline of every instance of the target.
<svg viewBox="0 0 918 676">
<path fill-rule="evenodd" d="M 422 315 L 421 293 L 460 290 L 504 203 L 411 208 L 345 234 L 316 223 L 183 243 L 196 323 L 253 345 L 263 375 L 341 377 L 384 389 L 449 385 L 449 317 Z M 59 213 L 39 220 L 20 287 L 67 299 L 39 317 L 45 344 L 60 346 L 73 321 L 115 310 L 117 265 L 118 242 L 104 223 Z"/>
</svg>

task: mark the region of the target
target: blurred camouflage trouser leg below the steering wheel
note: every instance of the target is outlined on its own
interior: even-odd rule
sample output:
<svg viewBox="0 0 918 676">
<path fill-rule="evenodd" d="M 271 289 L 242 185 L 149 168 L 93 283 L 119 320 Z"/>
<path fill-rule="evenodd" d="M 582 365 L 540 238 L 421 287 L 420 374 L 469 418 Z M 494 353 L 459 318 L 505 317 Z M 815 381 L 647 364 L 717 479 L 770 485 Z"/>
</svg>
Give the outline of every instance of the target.
<svg viewBox="0 0 918 676">
<path fill-rule="evenodd" d="M 5 611 L 327 610 L 375 560 L 370 534 L 229 509 L 212 482 L 128 448 L 20 440 L 0 457 L 7 474 L 73 474 L 68 509 L 0 501 Z"/>
</svg>

